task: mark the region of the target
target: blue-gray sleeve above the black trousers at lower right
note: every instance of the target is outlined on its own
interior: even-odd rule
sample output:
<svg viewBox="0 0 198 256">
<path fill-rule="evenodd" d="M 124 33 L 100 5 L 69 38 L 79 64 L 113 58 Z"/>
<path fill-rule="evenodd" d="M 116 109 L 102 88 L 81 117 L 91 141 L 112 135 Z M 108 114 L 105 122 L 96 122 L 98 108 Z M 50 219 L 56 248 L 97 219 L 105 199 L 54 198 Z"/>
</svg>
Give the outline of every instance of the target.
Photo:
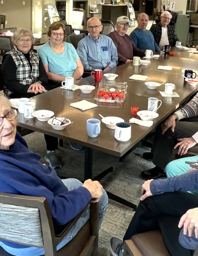
<svg viewBox="0 0 198 256">
<path fill-rule="evenodd" d="M 167 179 L 151 181 L 150 192 L 152 195 L 174 191 L 198 190 L 198 170 Z"/>
</svg>

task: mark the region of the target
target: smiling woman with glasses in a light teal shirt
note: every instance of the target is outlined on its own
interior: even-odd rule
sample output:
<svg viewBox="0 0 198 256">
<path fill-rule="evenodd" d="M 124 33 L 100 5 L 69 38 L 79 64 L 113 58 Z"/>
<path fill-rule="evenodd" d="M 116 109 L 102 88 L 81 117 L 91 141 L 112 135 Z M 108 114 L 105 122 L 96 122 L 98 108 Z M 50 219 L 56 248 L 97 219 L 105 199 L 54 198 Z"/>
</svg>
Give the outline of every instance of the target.
<svg viewBox="0 0 198 256">
<path fill-rule="evenodd" d="M 64 25 L 58 21 L 52 23 L 48 30 L 49 42 L 38 49 L 49 80 L 61 82 L 67 76 L 74 81 L 81 78 L 83 65 L 72 44 L 63 42 Z"/>
</svg>

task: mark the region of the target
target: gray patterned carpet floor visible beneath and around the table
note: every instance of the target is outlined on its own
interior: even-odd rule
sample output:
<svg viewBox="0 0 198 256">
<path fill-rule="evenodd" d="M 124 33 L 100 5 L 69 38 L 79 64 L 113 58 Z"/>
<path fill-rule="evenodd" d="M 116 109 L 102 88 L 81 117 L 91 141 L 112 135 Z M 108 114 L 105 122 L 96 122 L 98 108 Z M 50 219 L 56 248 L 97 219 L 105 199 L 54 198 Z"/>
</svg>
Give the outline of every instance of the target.
<svg viewBox="0 0 198 256">
<path fill-rule="evenodd" d="M 44 135 L 34 132 L 24 136 L 24 139 L 33 152 L 41 154 L 41 162 L 48 164 L 44 159 L 46 154 Z M 115 156 L 94 151 L 93 175 L 96 176 L 103 170 L 113 166 L 113 172 L 109 173 L 100 181 L 103 188 L 138 204 L 142 193 L 141 185 L 144 183 L 144 180 L 139 175 L 143 170 L 154 167 L 151 162 L 142 158 L 142 154 L 149 150 L 149 148 L 141 146 L 140 143 L 139 147 L 121 163 L 119 162 L 119 158 Z M 63 147 L 59 147 L 56 150 L 56 154 L 62 162 L 62 167 L 56 168 L 59 176 L 83 180 L 84 150 L 75 151 L 71 149 L 67 141 L 64 141 Z M 112 236 L 120 239 L 123 238 L 133 214 L 134 212 L 131 208 L 109 200 L 108 209 L 99 231 L 99 256 L 110 256 L 110 238 Z"/>
</svg>

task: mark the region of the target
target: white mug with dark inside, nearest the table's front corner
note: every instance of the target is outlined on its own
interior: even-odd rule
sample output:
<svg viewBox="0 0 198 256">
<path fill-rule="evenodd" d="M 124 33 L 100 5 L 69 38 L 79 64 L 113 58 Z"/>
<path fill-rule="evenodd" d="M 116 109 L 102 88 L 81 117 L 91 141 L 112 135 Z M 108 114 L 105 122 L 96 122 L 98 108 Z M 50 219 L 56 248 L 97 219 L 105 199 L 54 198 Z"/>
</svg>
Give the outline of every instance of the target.
<svg viewBox="0 0 198 256">
<path fill-rule="evenodd" d="M 131 125 L 128 123 L 117 123 L 115 125 L 114 137 L 119 141 L 128 141 L 131 138 Z"/>
</svg>

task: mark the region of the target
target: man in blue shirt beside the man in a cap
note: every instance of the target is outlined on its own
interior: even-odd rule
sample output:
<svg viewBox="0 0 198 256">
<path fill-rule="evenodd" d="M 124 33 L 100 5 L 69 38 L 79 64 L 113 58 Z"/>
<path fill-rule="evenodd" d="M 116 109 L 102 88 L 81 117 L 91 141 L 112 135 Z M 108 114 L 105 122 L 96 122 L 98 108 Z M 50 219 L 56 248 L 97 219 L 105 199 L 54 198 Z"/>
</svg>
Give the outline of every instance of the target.
<svg viewBox="0 0 198 256">
<path fill-rule="evenodd" d="M 138 27 L 134 29 L 130 34 L 131 40 L 141 50 L 151 50 L 153 53 L 159 52 L 160 49 L 155 43 L 152 33 L 147 30 L 148 15 L 146 13 L 140 13 L 138 15 Z"/>
</svg>

